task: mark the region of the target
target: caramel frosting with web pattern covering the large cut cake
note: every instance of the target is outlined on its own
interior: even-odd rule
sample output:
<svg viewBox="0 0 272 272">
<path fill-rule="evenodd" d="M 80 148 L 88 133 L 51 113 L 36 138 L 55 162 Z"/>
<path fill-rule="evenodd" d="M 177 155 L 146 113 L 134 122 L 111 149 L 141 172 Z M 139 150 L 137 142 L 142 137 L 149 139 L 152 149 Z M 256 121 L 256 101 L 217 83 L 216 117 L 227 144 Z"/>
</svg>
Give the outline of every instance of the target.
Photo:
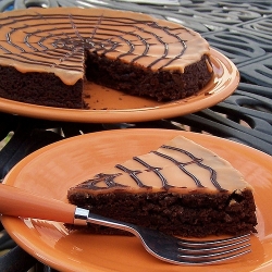
<svg viewBox="0 0 272 272">
<path fill-rule="evenodd" d="M 146 14 L 106 9 L 35 8 L 0 14 L 0 65 L 84 77 L 85 51 L 153 71 L 184 69 L 209 54 L 196 32 Z"/>
</svg>

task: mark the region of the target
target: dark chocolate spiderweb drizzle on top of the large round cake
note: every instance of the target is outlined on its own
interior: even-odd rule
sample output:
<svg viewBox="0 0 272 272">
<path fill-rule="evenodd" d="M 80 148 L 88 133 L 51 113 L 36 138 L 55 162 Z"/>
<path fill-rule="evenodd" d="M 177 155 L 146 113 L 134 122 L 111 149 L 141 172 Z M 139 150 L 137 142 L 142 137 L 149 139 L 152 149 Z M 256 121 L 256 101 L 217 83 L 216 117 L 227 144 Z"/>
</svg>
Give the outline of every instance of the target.
<svg viewBox="0 0 272 272">
<path fill-rule="evenodd" d="M 162 47 L 162 54 L 158 55 L 157 60 L 150 62 L 148 67 L 153 66 L 162 59 L 169 59 L 169 52 L 171 44 L 168 41 L 169 37 L 173 37 L 175 42 L 180 42 L 181 52 L 174 58 L 168 60 L 168 63 L 160 65 L 162 69 L 173 62 L 175 59 L 181 58 L 186 50 L 186 42 L 177 34 L 171 33 L 168 27 L 162 27 L 154 22 L 137 21 L 127 17 L 111 17 L 111 16 L 73 16 L 67 14 L 63 16 L 61 14 L 51 14 L 46 16 L 42 14 L 34 14 L 30 17 L 28 15 L 11 16 L 7 18 L 8 22 L 1 26 L 12 26 L 11 30 L 7 33 L 7 39 L 2 40 L 1 49 L 7 54 L 12 54 L 12 59 L 16 59 L 21 62 L 27 62 L 28 58 L 18 55 L 14 51 L 20 53 L 33 53 L 44 58 L 38 61 L 42 65 L 48 65 L 46 58 L 54 59 L 52 66 L 62 66 L 63 62 L 71 61 L 75 65 L 78 60 L 74 58 L 78 51 L 84 52 L 88 49 L 96 51 L 100 54 L 107 54 L 108 52 L 116 52 L 118 59 L 122 59 L 125 55 L 133 55 L 132 62 L 136 62 L 140 58 L 146 57 L 149 53 L 149 49 L 152 46 L 160 45 Z M 61 26 L 52 27 L 54 21 L 63 21 Z M 22 26 L 16 26 L 20 23 Z M 34 25 L 32 25 L 34 23 Z M 29 29 L 37 27 L 37 30 Z M 127 28 L 127 30 L 122 30 Z M 161 30 L 163 35 L 158 35 L 157 29 Z M 183 28 L 181 28 L 183 29 Z M 26 47 L 18 46 L 13 42 L 14 36 L 18 32 L 23 32 L 25 35 L 22 37 Z M 33 41 L 33 37 L 37 37 L 38 40 Z M 153 41 L 149 42 L 150 36 L 154 37 Z M 133 39 L 132 39 L 133 37 Z M 9 44 L 15 50 L 9 50 L 4 47 L 4 44 Z M 45 45 L 47 42 L 47 45 Z M 122 53 L 120 50 L 124 48 L 124 44 L 128 45 L 127 51 Z M 136 47 L 143 47 L 140 53 L 135 53 Z M 28 50 L 27 50 L 28 49 Z M 60 50 L 62 49 L 62 50 Z M 35 52 L 40 52 L 39 54 Z M 55 57 L 53 57 L 55 55 Z M 60 63 L 58 63 L 58 61 Z M 65 66 L 65 69 L 69 69 Z"/>
</svg>

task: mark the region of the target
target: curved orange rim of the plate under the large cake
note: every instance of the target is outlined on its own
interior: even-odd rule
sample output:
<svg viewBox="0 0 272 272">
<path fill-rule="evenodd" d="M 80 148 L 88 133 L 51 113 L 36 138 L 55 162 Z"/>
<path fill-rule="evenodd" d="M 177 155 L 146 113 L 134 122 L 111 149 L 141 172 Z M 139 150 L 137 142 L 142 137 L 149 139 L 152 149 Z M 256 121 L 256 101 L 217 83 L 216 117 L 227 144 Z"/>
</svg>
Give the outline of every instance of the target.
<svg viewBox="0 0 272 272">
<path fill-rule="evenodd" d="M 0 98 L 0 109 L 5 113 L 20 114 L 28 118 L 83 123 L 144 122 L 185 115 L 221 102 L 231 96 L 239 84 L 238 69 L 227 57 L 211 48 L 211 58 L 217 58 L 217 60 L 221 62 L 221 67 L 223 67 L 224 72 L 228 72 L 230 77 L 225 79 L 221 91 L 211 94 L 196 101 L 187 100 L 197 95 L 156 107 L 120 110 L 82 110 L 38 106 Z M 220 77 L 218 76 L 217 78 Z M 212 89 L 210 92 L 212 92 Z"/>
</svg>

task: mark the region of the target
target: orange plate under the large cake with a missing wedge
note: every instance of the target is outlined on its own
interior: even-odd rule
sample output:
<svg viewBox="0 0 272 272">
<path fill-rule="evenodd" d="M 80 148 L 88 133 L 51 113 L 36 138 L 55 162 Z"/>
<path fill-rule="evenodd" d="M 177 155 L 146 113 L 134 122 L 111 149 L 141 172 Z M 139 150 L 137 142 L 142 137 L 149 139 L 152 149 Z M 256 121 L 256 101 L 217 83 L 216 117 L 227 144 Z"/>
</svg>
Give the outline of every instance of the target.
<svg viewBox="0 0 272 272">
<path fill-rule="evenodd" d="M 86 83 L 86 102 L 91 110 L 73 110 L 22 103 L 0 98 L 0 110 L 30 118 L 70 122 L 120 123 L 173 118 L 209 108 L 228 97 L 237 87 L 239 73 L 226 57 L 211 50 L 214 76 L 196 96 L 173 102 L 157 102 Z"/>
</svg>

